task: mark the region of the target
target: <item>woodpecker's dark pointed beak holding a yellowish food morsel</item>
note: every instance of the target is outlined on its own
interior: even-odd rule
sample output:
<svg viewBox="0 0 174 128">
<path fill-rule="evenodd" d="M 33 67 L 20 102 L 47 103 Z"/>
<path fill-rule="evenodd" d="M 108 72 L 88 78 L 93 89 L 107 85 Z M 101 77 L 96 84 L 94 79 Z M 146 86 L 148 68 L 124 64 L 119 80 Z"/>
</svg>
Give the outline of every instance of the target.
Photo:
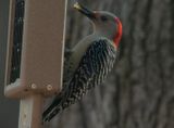
<svg viewBox="0 0 174 128">
<path fill-rule="evenodd" d="M 96 18 L 95 12 L 92 12 L 89 9 L 83 7 L 78 2 L 76 2 L 74 4 L 74 9 L 76 9 L 77 11 L 79 11 L 80 13 L 83 13 L 84 15 L 86 15 L 87 17 L 89 17 L 90 20 L 95 20 Z"/>
</svg>

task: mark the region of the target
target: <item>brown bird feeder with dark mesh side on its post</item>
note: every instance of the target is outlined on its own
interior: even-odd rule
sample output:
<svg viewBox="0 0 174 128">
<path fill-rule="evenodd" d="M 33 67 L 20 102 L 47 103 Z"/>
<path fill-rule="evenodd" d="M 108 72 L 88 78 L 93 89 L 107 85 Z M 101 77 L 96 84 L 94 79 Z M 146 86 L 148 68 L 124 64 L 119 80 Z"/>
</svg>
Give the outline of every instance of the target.
<svg viewBox="0 0 174 128">
<path fill-rule="evenodd" d="M 66 0 L 10 0 L 5 87 L 18 128 L 40 128 L 44 97 L 62 85 Z"/>
</svg>

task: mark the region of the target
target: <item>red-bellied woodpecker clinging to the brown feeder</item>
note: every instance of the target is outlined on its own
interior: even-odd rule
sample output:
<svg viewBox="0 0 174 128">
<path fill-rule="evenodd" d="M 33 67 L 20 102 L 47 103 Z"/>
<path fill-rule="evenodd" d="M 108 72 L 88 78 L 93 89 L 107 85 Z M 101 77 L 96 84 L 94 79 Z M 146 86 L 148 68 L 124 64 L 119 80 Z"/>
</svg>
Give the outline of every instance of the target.
<svg viewBox="0 0 174 128">
<path fill-rule="evenodd" d="M 44 112 L 44 121 L 49 121 L 60 111 L 80 100 L 89 89 L 100 85 L 116 59 L 122 37 L 121 21 L 109 12 L 90 11 L 79 3 L 74 8 L 91 21 L 94 34 L 73 48 L 64 71 L 64 87 Z"/>
</svg>

